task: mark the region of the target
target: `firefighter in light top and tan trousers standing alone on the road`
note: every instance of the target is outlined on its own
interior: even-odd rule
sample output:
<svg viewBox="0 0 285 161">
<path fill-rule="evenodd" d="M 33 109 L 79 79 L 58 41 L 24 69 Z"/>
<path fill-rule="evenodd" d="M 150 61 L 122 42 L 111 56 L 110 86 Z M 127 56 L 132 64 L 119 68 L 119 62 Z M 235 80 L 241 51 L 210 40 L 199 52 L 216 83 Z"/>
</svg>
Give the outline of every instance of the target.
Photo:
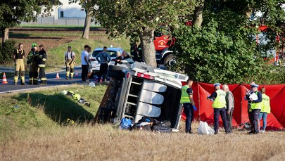
<svg viewBox="0 0 285 161">
<path fill-rule="evenodd" d="M 65 65 L 66 65 L 66 79 L 73 78 L 74 66 L 75 66 L 75 52 L 71 50 L 71 46 L 68 46 L 68 51 L 65 51 Z"/>
</svg>

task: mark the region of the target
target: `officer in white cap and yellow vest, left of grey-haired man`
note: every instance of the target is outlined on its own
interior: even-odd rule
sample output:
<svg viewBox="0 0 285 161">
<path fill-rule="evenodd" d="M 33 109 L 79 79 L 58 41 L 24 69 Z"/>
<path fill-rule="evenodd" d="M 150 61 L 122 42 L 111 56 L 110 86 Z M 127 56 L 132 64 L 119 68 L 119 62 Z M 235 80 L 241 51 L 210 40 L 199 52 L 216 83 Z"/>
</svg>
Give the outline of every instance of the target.
<svg viewBox="0 0 285 161">
<path fill-rule="evenodd" d="M 215 134 L 219 131 L 219 117 L 222 117 L 222 124 L 224 124 L 224 130 L 226 134 L 229 134 L 229 125 L 227 123 L 227 110 L 226 110 L 226 92 L 221 90 L 221 84 L 214 84 L 214 88 L 216 91 L 213 92 L 210 96 L 208 96 L 208 100 L 213 100 L 213 108 L 214 108 L 214 129 Z"/>
</svg>

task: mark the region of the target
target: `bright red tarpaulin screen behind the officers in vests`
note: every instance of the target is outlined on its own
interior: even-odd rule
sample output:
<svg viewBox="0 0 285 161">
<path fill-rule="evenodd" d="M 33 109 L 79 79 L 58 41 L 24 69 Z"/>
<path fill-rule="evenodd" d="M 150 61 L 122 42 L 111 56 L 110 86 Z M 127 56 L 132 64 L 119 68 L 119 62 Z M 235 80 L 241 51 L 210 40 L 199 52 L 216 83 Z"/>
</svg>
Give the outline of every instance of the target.
<svg viewBox="0 0 285 161">
<path fill-rule="evenodd" d="M 250 89 L 248 84 L 230 84 L 229 90 L 234 95 L 234 113 L 233 113 L 233 126 L 248 121 L 248 101 L 245 100 L 246 89 Z M 267 116 L 267 128 L 271 130 L 284 129 L 285 127 L 285 84 L 279 85 L 260 85 L 260 88 L 265 86 L 267 96 L 270 97 L 271 113 Z M 212 101 L 207 100 L 215 89 L 213 84 L 194 83 L 192 85 L 194 91 L 194 101 L 196 103 L 197 111 L 194 112 L 196 120 L 201 120 L 213 124 L 214 110 L 212 108 Z M 183 113 L 182 118 L 185 120 Z M 220 118 L 220 124 L 222 120 Z M 262 122 L 260 122 L 262 126 Z"/>
</svg>

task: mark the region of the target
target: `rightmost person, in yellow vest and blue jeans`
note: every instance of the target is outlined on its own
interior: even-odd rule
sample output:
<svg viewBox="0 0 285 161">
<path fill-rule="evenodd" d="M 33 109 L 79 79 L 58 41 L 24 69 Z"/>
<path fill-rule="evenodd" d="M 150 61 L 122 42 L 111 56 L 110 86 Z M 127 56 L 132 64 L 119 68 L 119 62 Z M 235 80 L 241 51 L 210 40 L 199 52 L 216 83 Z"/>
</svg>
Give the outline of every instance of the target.
<svg viewBox="0 0 285 161">
<path fill-rule="evenodd" d="M 260 130 L 261 133 L 265 132 L 266 124 L 267 124 L 267 115 L 270 114 L 270 97 L 265 94 L 265 87 L 261 88 L 262 93 L 262 102 L 261 102 L 261 110 L 259 114 L 259 120 L 263 121 L 263 127 L 262 130 Z"/>
</svg>

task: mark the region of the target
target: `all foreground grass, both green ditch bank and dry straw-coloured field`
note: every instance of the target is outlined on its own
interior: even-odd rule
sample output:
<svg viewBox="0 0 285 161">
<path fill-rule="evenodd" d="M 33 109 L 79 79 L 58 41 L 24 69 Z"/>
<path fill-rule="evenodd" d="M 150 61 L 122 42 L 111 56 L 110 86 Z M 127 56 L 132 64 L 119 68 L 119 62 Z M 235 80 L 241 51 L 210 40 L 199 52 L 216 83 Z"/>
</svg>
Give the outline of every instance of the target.
<svg viewBox="0 0 285 161">
<path fill-rule="evenodd" d="M 68 88 L 91 101 L 80 105 L 59 93 L 63 87 L 0 95 L 0 160 L 284 160 L 284 131 L 215 136 L 180 131 L 158 134 L 122 131 L 118 125 L 87 122 L 106 86 Z M 15 108 L 15 105 L 17 108 Z M 75 124 L 66 123 L 67 118 Z M 85 122 L 85 123 L 84 123 Z"/>
</svg>

